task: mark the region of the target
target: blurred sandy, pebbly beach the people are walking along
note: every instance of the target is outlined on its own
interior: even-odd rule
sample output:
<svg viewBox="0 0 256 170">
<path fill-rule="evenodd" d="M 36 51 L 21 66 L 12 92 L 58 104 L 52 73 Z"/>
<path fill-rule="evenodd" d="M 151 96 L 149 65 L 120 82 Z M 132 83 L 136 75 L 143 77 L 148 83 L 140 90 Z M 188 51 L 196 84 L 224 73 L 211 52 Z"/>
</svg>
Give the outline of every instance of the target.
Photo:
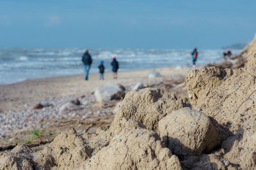
<svg viewBox="0 0 256 170">
<path fill-rule="evenodd" d="M 105 80 L 99 80 L 99 73 L 92 73 L 88 81 L 84 80 L 83 74 L 56 76 L 1 85 L 0 138 L 2 140 L 0 144 L 8 146 L 22 143 L 29 138 L 29 133 L 33 129 L 54 131 L 54 134 L 58 134 L 79 124 L 79 128 L 76 129 L 78 132 L 82 132 L 84 129 L 87 129 L 86 132 L 94 132 L 99 126 L 108 127 L 115 115 L 113 110 L 118 101 L 109 101 L 106 106 L 100 106 L 100 104 L 97 106 L 95 96 L 92 94 L 95 89 L 107 83 L 118 83 L 125 87 L 125 92 L 129 92 L 132 86 L 139 82 L 143 83 L 145 87 L 159 86 L 164 81 L 168 81 L 169 84 L 170 82 L 182 83 L 186 72 L 191 69 L 193 69 L 192 66 L 176 66 L 121 71 L 118 72 L 118 79 L 113 79 L 112 73 L 105 73 Z M 159 71 L 161 76 L 147 78 L 151 71 Z M 183 89 L 180 95 L 186 96 L 186 90 Z M 74 99 L 79 99 L 81 102 L 81 110 L 68 113 L 59 111 L 63 104 Z M 47 103 L 51 106 L 29 110 L 29 106 L 38 103 Z M 49 138 L 49 134 L 41 135 L 41 141 L 45 141 L 47 138 Z"/>
</svg>

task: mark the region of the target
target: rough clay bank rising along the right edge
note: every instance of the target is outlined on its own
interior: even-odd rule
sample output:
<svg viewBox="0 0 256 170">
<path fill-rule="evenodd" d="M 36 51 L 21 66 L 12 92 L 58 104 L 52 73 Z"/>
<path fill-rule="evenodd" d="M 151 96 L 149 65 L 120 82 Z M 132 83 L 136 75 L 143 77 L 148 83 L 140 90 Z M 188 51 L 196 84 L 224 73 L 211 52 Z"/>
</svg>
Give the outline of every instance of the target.
<svg viewBox="0 0 256 170">
<path fill-rule="evenodd" d="M 247 67 L 202 68 L 186 77 L 192 106 L 200 107 L 230 132 L 221 134 L 221 146 L 227 150 L 225 159 L 241 169 L 256 169 L 256 67 L 250 64 L 250 57 Z"/>
</svg>

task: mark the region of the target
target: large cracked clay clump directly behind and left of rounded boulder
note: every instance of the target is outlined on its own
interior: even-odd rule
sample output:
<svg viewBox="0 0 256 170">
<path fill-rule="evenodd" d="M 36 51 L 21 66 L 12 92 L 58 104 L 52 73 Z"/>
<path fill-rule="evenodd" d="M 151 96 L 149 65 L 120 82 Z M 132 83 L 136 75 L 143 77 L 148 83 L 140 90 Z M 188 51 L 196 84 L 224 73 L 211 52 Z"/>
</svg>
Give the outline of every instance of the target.
<svg viewBox="0 0 256 170">
<path fill-rule="evenodd" d="M 182 100 L 166 89 L 132 90 L 120 104 L 112 124 L 116 124 L 122 117 L 127 117 L 141 122 L 149 130 L 157 130 L 161 118 L 173 110 L 182 108 L 183 105 Z"/>
</svg>

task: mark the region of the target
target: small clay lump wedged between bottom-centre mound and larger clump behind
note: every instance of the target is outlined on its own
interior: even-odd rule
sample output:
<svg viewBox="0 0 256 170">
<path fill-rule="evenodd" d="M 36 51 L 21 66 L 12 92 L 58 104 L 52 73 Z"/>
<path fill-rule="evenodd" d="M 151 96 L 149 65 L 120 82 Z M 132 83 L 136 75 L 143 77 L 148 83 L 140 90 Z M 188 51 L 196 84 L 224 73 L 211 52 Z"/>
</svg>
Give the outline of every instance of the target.
<svg viewBox="0 0 256 170">
<path fill-rule="evenodd" d="M 109 127 L 108 132 L 111 136 L 115 136 L 116 134 L 119 134 L 124 129 L 140 129 L 140 128 L 146 128 L 145 125 L 141 124 L 141 122 L 138 122 L 137 120 L 132 120 L 131 118 L 120 118 L 119 120 L 116 120 L 115 124 L 111 124 Z"/>
</svg>

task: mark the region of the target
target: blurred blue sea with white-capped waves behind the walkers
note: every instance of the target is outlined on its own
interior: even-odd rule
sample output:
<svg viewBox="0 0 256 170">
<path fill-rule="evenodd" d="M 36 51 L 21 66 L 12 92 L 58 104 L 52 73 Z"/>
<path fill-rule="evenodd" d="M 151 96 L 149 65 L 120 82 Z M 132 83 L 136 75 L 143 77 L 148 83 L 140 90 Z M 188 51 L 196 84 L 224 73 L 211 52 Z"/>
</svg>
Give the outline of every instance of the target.
<svg viewBox="0 0 256 170">
<path fill-rule="evenodd" d="M 90 73 L 97 73 L 100 60 L 106 72 L 111 71 L 115 55 L 120 71 L 191 64 L 192 49 L 90 49 L 93 64 Z M 237 53 L 239 50 L 232 50 Z M 0 85 L 33 78 L 83 74 L 82 48 L 0 48 Z M 218 62 L 223 50 L 198 50 L 196 64 Z"/>
</svg>

